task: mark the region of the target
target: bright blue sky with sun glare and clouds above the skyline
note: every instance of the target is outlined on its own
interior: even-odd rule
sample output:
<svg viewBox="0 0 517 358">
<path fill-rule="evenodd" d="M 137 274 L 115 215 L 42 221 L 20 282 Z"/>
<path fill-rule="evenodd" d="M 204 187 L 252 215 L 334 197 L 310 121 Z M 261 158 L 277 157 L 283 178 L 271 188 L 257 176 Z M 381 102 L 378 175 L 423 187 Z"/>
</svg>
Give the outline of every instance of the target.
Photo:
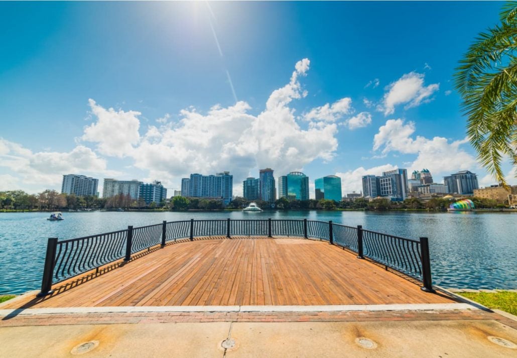
<svg viewBox="0 0 517 358">
<path fill-rule="evenodd" d="M 2 2 L 0 190 L 229 170 L 238 195 L 264 167 L 344 193 L 394 167 L 493 184 L 452 74 L 500 6 Z"/>
</svg>

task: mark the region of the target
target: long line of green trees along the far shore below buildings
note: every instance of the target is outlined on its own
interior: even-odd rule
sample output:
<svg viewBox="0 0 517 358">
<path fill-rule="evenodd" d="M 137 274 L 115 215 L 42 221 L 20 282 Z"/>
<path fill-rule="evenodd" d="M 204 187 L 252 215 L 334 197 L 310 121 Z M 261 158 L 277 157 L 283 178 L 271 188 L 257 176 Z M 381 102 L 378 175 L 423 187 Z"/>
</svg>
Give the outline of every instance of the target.
<svg viewBox="0 0 517 358">
<path fill-rule="evenodd" d="M 484 198 L 469 198 L 478 209 L 502 210 L 507 205 L 500 204 L 495 200 Z M 147 204 L 143 198 L 132 199 L 129 195 L 116 195 L 111 198 L 98 198 L 96 196 L 78 197 L 58 193 L 55 190 L 45 190 L 38 194 L 28 194 L 23 190 L 0 191 L 0 211 L 55 211 L 55 210 L 241 210 L 251 201 L 242 197 L 236 197 L 226 206 L 221 200 L 205 198 L 172 197 L 162 200 L 160 203 L 151 202 Z M 426 210 L 446 211 L 451 200 L 443 198 L 432 198 L 423 201 L 419 198 L 408 198 L 404 201 L 390 201 L 385 198 L 376 198 L 371 201 L 364 198 L 356 198 L 354 201 L 333 201 L 327 199 L 309 200 L 287 200 L 280 198 L 271 203 L 255 200 L 253 201 L 263 210 L 368 210 L 368 211 L 391 211 L 391 210 Z"/>
</svg>

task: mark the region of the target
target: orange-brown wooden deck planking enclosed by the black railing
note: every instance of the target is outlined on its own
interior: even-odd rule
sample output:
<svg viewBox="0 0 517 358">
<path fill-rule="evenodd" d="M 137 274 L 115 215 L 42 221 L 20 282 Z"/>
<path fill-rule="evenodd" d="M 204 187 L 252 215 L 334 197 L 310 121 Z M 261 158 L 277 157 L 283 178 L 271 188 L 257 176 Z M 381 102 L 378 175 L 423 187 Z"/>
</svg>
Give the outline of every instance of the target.
<svg viewBox="0 0 517 358">
<path fill-rule="evenodd" d="M 446 302 L 452 301 L 327 242 L 263 237 L 168 245 L 71 289 L 6 308 Z"/>
</svg>

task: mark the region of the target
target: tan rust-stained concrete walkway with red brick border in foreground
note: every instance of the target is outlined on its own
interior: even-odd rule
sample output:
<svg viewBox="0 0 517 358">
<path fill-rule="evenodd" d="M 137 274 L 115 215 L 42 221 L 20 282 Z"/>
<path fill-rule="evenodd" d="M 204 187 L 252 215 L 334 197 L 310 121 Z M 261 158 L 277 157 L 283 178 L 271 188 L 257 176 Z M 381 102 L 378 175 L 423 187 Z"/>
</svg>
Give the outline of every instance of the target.
<svg viewBox="0 0 517 358">
<path fill-rule="evenodd" d="M 515 357 L 517 321 L 468 309 L 3 311 L 1 357 Z M 341 309 L 343 307 L 340 307 Z M 393 307 L 395 308 L 395 307 Z"/>
</svg>

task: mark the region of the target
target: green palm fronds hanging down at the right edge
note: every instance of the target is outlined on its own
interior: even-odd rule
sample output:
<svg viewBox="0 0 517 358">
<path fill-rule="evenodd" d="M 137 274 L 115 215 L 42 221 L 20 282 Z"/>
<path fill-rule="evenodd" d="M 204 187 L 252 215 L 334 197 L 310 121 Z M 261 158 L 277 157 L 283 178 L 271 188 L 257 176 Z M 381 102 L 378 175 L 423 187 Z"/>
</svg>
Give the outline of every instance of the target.
<svg viewBox="0 0 517 358">
<path fill-rule="evenodd" d="M 517 2 L 505 4 L 500 19 L 478 35 L 454 77 L 470 143 L 481 165 L 506 187 L 503 157 L 517 166 Z"/>
</svg>

